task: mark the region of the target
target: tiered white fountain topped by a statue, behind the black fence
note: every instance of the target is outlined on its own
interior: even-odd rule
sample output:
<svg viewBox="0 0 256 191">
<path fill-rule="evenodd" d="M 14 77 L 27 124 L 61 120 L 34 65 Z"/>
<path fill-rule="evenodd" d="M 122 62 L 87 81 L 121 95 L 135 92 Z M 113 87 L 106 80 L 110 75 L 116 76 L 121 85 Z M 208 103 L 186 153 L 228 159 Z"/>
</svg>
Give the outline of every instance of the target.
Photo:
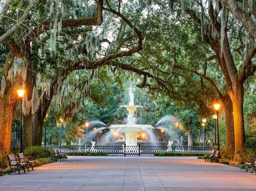
<svg viewBox="0 0 256 191">
<path fill-rule="evenodd" d="M 152 126 L 151 125 L 136 125 L 135 124 L 135 110 L 138 107 L 142 107 L 142 106 L 134 106 L 134 96 L 133 96 L 133 92 L 132 92 L 132 88 L 130 86 L 130 102 L 129 102 L 129 106 L 126 105 L 122 105 L 120 107 L 125 107 L 128 110 L 128 123 L 127 125 L 111 125 L 109 128 L 110 130 L 120 130 L 121 132 L 124 132 L 125 134 L 125 144 L 126 146 L 137 146 L 137 134 L 141 131 L 145 131 L 145 130 L 152 130 Z"/>
</svg>

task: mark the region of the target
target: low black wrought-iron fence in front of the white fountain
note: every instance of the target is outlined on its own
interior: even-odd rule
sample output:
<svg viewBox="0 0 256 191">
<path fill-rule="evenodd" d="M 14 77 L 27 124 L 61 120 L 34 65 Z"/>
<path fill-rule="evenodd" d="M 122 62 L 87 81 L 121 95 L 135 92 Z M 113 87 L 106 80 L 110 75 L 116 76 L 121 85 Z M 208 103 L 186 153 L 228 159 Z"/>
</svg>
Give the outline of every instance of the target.
<svg viewBox="0 0 256 191">
<path fill-rule="evenodd" d="M 44 145 L 43 145 L 44 146 Z M 210 153 L 214 146 L 105 146 L 105 145 L 46 145 L 50 149 L 60 148 L 69 155 L 81 152 L 107 152 L 110 156 L 153 156 L 155 153 L 183 153 L 184 156 Z M 195 153 L 195 154 L 192 154 Z M 91 154 L 93 155 L 93 154 Z"/>
</svg>

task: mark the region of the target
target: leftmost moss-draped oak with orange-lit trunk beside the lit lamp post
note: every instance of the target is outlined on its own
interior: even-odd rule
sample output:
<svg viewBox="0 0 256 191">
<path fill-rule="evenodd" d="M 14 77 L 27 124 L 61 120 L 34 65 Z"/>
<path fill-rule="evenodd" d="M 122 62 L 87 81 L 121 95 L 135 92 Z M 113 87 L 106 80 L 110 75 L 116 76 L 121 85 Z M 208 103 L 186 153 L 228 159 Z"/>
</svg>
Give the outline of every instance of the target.
<svg viewBox="0 0 256 191">
<path fill-rule="evenodd" d="M 11 126 L 14 108 L 18 103 L 16 87 L 19 81 L 24 82 L 26 89 L 23 102 L 23 123 L 26 124 L 23 131 L 24 147 L 30 146 L 32 143 L 32 113 L 36 109 L 34 104 L 38 97 L 35 90 L 36 76 L 33 72 L 33 66 L 36 64 L 33 65 L 31 44 L 34 41 L 40 42 L 49 39 L 48 48 L 54 49 L 57 31 L 77 26 L 102 24 L 101 0 L 96 3 L 96 6 L 93 5 L 89 8 L 87 2 L 83 4 L 84 12 L 82 13 L 71 9 L 69 5 L 71 2 L 59 5 L 55 3 L 55 1 L 46 4 L 21 1 L 7 9 L 6 13 L 10 13 L 11 17 L 2 18 L 0 42 L 4 42 L 10 48 L 4 63 L 1 81 L 0 134 L 2 137 L 0 146 L 4 149 L 9 150 L 11 146 Z M 18 20 L 14 18 L 18 18 Z M 13 23 L 13 21 L 15 22 Z M 48 35 L 50 38 L 47 37 Z M 49 92 L 42 91 L 42 94 L 45 93 Z"/>
</svg>

